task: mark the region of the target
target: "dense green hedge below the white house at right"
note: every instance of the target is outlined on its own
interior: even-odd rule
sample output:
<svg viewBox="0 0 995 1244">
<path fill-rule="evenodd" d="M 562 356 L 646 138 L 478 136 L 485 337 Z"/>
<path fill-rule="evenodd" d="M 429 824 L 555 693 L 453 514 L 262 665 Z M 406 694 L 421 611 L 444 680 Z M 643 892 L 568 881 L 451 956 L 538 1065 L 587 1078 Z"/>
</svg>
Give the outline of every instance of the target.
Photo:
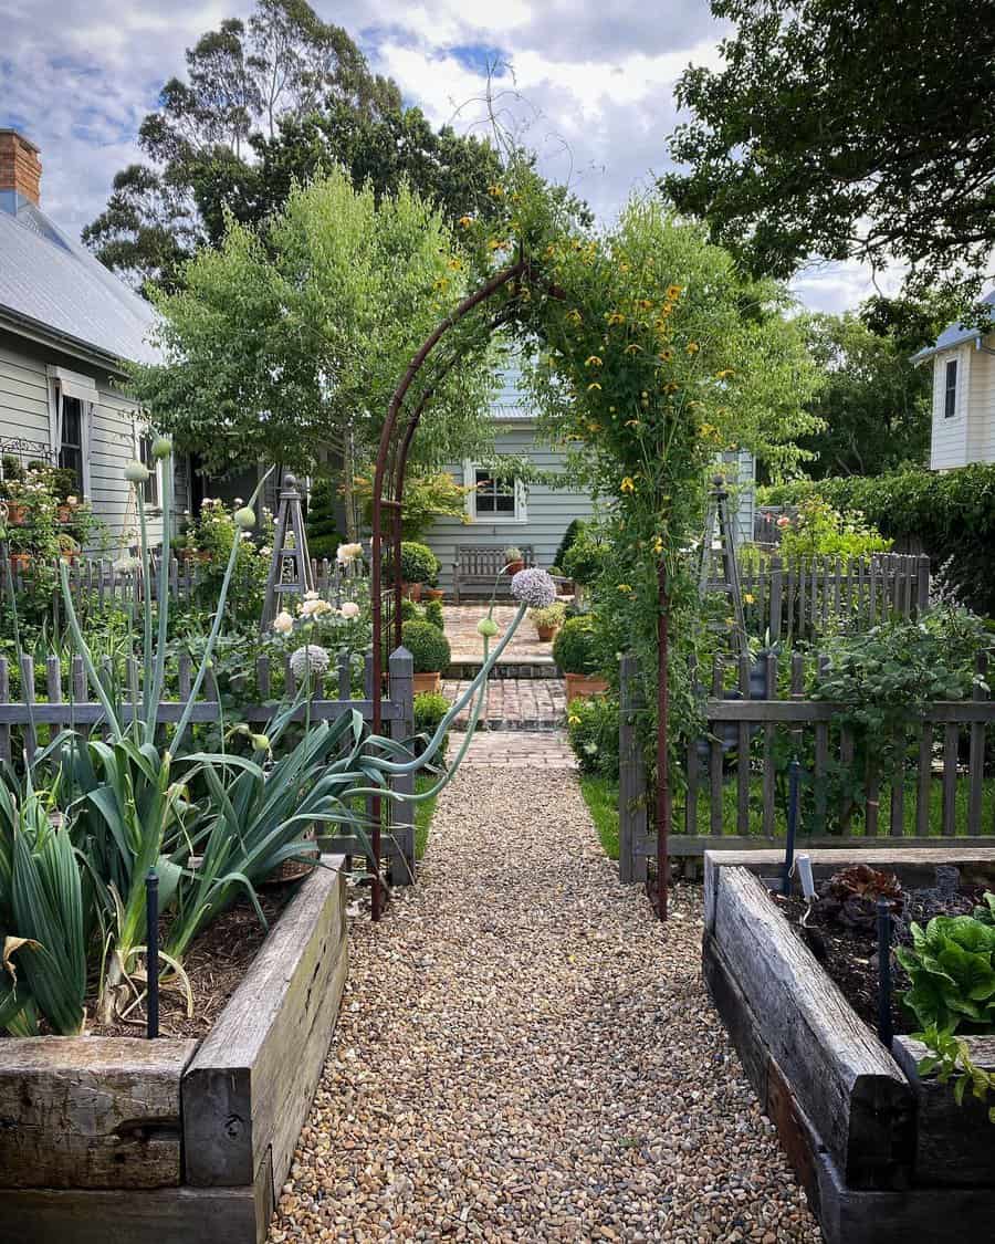
<svg viewBox="0 0 995 1244">
<path fill-rule="evenodd" d="M 995 615 L 995 464 L 792 480 L 766 489 L 764 501 L 796 505 L 812 494 L 838 510 L 862 510 L 899 544 L 920 541 L 943 591 Z"/>
</svg>

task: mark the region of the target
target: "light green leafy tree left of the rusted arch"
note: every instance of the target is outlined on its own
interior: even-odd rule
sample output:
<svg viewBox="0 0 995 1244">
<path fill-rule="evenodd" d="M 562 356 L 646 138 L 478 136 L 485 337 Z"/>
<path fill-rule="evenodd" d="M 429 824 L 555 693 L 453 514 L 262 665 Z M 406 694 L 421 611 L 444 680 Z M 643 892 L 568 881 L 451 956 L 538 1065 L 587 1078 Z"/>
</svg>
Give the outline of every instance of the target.
<svg viewBox="0 0 995 1244">
<path fill-rule="evenodd" d="M 465 281 L 434 207 L 407 185 L 377 200 L 335 169 L 295 187 L 259 228 L 229 221 L 221 245 L 187 265 L 182 290 L 153 295 L 165 361 L 136 366 L 132 389 L 210 474 L 252 460 L 331 463 L 348 500 L 398 377 Z M 434 387 L 413 445 L 422 464 L 489 444 L 488 335 L 455 340 L 464 366 L 427 369 L 409 396 L 417 403 Z"/>
</svg>

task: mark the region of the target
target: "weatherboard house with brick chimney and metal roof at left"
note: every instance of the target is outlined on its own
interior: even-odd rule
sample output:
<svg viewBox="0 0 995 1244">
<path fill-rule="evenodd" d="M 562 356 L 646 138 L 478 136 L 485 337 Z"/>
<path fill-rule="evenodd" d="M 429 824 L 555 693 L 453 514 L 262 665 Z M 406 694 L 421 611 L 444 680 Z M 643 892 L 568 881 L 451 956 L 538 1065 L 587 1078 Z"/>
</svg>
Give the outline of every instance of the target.
<svg viewBox="0 0 995 1244">
<path fill-rule="evenodd" d="M 40 207 L 39 149 L 0 129 L 0 462 L 47 462 L 76 474 L 107 529 L 134 539 L 123 470 L 153 465 L 141 412 L 121 389 L 122 360 L 154 361 L 154 311 Z M 175 458 L 175 509 L 189 504 L 190 463 Z M 162 530 L 162 465 L 144 485 L 152 537 Z"/>
</svg>

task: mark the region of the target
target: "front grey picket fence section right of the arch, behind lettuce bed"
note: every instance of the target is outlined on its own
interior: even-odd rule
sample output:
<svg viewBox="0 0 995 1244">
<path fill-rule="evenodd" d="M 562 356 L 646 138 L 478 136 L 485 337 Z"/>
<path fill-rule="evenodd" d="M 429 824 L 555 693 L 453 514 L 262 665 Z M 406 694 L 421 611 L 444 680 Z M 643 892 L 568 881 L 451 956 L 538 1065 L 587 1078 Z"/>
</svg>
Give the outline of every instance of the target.
<svg viewBox="0 0 995 1244">
<path fill-rule="evenodd" d="M 724 689 L 725 663 L 716 657 L 704 702 L 706 734 L 688 744 L 683 781 L 677 784 L 670 853 L 700 856 L 715 848 L 784 845 L 786 759 L 792 755 L 802 766 L 798 841 L 806 846 L 840 846 L 883 835 L 902 838 L 903 847 L 944 846 L 954 840 L 959 846 L 995 846 L 995 792 L 986 787 L 995 773 L 985 758 L 995 702 L 984 685 L 976 685 L 970 700 L 937 702 L 909 722 L 917 740 L 914 759 L 883 778 L 873 754 L 864 758 L 863 771 L 854 773 L 853 733 L 837 724 L 842 705 L 806 694 L 811 662 L 816 671 L 825 668 L 822 657 L 792 657 L 790 692 L 779 698 L 774 656 L 764 659 L 760 671 L 747 657 L 740 658 L 733 692 Z M 976 667 L 983 683 L 986 672 L 983 653 Z M 762 698 L 750 698 L 751 674 L 754 694 L 761 683 Z M 636 658 L 624 657 L 618 796 L 623 881 L 644 880 L 647 858 L 657 851 L 639 744 L 643 710 Z"/>
</svg>

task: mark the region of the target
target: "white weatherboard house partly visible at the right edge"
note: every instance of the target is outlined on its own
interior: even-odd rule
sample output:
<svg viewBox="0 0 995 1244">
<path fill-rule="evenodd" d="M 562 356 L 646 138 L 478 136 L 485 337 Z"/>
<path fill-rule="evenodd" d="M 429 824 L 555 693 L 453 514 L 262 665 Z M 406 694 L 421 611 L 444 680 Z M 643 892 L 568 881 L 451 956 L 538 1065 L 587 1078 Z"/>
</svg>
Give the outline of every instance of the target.
<svg viewBox="0 0 995 1244">
<path fill-rule="evenodd" d="M 981 302 L 995 310 L 995 290 Z M 933 367 L 930 470 L 995 462 L 995 332 L 948 325 L 912 361 Z"/>
</svg>

